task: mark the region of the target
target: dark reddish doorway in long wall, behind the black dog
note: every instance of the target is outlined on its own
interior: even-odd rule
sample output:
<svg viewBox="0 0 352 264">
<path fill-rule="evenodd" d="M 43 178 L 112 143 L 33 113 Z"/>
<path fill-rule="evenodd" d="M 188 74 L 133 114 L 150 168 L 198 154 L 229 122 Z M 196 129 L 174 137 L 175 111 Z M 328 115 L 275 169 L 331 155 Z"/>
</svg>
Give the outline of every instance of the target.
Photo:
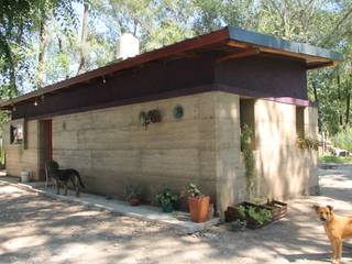
<svg viewBox="0 0 352 264">
<path fill-rule="evenodd" d="M 53 160 L 53 124 L 51 119 L 40 120 L 40 180 L 45 180 L 45 163 Z"/>
</svg>

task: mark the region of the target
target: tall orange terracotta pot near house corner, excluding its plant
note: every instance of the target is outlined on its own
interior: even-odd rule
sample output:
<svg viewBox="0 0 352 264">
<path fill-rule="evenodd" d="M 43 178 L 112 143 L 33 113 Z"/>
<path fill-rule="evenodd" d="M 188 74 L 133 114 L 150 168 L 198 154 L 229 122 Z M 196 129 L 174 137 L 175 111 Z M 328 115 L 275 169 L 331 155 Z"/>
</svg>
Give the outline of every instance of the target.
<svg viewBox="0 0 352 264">
<path fill-rule="evenodd" d="M 209 218 L 210 197 L 188 197 L 188 207 L 191 221 L 205 222 Z"/>
</svg>

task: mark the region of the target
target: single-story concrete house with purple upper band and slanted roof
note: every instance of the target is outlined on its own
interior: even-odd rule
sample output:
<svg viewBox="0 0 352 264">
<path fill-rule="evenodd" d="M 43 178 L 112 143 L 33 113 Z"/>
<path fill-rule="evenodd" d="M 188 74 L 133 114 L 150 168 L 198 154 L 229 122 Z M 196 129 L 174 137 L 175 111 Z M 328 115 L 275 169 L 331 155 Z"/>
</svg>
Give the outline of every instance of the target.
<svg viewBox="0 0 352 264">
<path fill-rule="evenodd" d="M 307 70 L 340 53 L 238 28 L 118 59 L 0 103 L 7 169 L 44 178 L 51 158 L 80 172 L 87 191 L 122 198 L 127 185 L 153 201 L 163 185 L 193 182 L 216 210 L 248 198 L 241 124 L 253 131 L 255 195 L 285 198 L 318 186 L 317 107 Z M 152 116 L 151 116 L 152 113 Z M 152 121 L 152 122 L 150 122 Z"/>
</svg>

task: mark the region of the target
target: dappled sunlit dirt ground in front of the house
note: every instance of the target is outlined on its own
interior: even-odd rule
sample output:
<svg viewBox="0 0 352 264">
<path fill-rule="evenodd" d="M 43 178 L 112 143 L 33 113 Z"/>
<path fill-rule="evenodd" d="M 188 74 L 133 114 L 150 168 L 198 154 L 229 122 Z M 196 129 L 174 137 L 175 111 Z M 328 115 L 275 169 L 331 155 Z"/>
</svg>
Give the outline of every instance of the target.
<svg viewBox="0 0 352 264">
<path fill-rule="evenodd" d="M 352 165 L 320 169 L 321 196 L 289 201 L 288 218 L 262 230 L 215 227 L 191 235 L 0 184 L 0 263 L 329 263 L 311 205 L 352 212 Z M 352 250 L 344 246 L 344 262 Z"/>
</svg>

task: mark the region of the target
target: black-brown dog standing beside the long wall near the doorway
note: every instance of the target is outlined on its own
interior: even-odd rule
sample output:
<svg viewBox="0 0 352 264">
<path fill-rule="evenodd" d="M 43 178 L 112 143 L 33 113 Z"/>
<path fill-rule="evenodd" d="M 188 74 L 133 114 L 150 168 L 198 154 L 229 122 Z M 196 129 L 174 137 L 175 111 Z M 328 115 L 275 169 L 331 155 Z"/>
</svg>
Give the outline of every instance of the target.
<svg viewBox="0 0 352 264">
<path fill-rule="evenodd" d="M 65 187 L 65 196 L 67 195 L 67 185 L 70 182 L 76 189 L 76 196 L 79 197 L 80 188 L 85 188 L 79 173 L 76 169 L 59 169 L 58 163 L 55 161 L 51 161 L 47 164 L 48 173 L 53 177 L 54 184 L 56 186 L 56 195 L 59 195 L 59 186 L 64 185 Z"/>
</svg>

